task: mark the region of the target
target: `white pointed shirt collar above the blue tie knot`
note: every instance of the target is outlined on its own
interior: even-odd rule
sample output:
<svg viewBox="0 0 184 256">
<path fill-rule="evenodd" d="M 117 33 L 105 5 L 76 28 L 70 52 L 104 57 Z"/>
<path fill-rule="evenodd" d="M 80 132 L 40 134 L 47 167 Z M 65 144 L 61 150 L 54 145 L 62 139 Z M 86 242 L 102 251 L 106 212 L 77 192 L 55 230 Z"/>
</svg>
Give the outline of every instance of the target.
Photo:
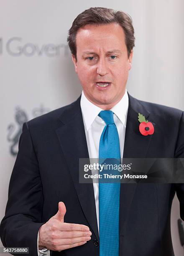
<svg viewBox="0 0 184 256">
<path fill-rule="evenodd" d="M 94 122 L 97 115 L 100 113 L 102 108 L 97 107 L 92 102 L 90 102 L 82 91 L 81 100 L 80 100 L 82 117 L 84 120 L 85 129 L 88 131 L 92 123 Z M 125 90 L 125 94 L 121 100 L 110 110 L 118 117 L 118 119 L 126 126 L 126 118 L 128 112 L 128 93 Z"/>
</svg>

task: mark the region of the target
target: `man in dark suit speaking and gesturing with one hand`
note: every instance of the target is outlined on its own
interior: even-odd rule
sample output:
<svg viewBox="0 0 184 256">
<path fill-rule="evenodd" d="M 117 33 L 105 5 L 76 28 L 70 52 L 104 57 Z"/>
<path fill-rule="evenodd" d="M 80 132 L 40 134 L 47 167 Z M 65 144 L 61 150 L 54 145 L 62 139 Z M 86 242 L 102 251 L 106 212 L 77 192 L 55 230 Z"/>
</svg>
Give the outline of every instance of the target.
<svg viewBox="0 0 184 256">
<path fill-rule="evenodd" d="M 24 123 L 0 225 L 4 246 L 29 247 L 34 256 L 44 250 L 52 256 L 117 255 L 99 249 L 98 186 L 79 183 L 79 159 L 98 158 L 105 127 L 101 110 L 113 112 L 121 157 L 184 158 L 184 113 L 136 100 L 126 91 L 133 33 L 128 15 L 106 8 L 90 8 L 74 20 L 68 42 L 82 96 Z M 138 113 L 154 132 L 139 131 Z M 119 255 L 174 255 L 175 192 L 184 220 L 184 184 L 120 185 Z"/>
</svg>

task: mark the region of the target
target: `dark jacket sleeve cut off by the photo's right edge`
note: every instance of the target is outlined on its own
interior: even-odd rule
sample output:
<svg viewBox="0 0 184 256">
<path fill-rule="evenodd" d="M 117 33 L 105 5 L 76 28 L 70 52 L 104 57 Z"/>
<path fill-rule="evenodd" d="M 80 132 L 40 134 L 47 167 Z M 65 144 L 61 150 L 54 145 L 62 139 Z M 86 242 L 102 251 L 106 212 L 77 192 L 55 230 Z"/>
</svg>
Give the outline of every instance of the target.
<svg viewBox="0 0 184 256">
<path fill-rule="evenodd" d="M 176 143 L 176 150 L 175 150 L 175 158 L 181 158 L 182 161 L 179 161 L 180 166 L 184 169 L 182 163 L 184 163 L 184 112 L 181 115 L 181 120 L 179 123 L 179 132 L 178 132 L 178 139 Z M 176 183 L 175 184 L 176 195 L 179 199 L 180 205 L 180 217 L 184 220 L 184 183 Z"/>
</svg>

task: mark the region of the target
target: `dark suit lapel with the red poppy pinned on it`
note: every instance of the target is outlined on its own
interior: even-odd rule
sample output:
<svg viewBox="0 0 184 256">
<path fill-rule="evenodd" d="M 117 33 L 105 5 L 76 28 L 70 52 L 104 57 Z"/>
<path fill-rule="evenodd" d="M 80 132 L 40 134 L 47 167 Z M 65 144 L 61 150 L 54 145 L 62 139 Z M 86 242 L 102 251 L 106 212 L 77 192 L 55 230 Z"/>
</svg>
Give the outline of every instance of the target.
<svg viewBox="0 0 184 256">
<path fill-rule="evenodd" d="M 138 113 L 147 119 L 149 112 L 135 98 L 129 97 L 129 107 L 125 131 L 125 144 L 123 158 L 146 158 L 146 153 L 152 136 L 143 136 L 139 131 Z M 149 119 L 148 119 L 149 120 Z M 152 122 L 153 123 L 153 122 Z M 155 126 L 155 124 L 153 124 Z M 121 183 L 120 186 L 120 235 L 123 234 L 123 224 L 128 217 L 128 212 L 133 200 L 136 183 Z"/>
</svg>

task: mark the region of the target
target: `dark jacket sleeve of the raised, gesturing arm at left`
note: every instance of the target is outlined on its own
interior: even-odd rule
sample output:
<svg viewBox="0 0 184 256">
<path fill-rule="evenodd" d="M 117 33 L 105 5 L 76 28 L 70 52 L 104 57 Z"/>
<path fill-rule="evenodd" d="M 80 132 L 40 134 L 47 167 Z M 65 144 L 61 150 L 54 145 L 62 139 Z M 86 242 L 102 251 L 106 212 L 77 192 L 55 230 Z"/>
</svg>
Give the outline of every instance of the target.
<svg viewBox="0 0 184 256">
<path fill-rule="evenodd" d="M 44 224 L 41 223 L 43 190 L 27 123 L 23 124 L 18 148 L 10 177 L 5 216 L 0 224 L 0 237 L 3 246 L 29 247 L 29 255 L 35 256 L 38 255 L 38 230 Z"/>
</svg>

